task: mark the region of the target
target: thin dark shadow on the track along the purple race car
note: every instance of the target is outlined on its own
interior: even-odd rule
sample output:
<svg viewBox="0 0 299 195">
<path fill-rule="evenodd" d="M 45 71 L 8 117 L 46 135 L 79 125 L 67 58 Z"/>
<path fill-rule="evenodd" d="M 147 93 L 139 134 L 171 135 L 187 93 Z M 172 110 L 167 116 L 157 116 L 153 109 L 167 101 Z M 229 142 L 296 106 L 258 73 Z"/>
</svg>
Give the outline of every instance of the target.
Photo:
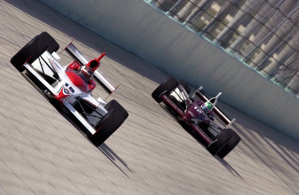
<svg viewBox="0 0 299 195">
<path fill-rule="evenodd" d="M 163 104 L 160 104 L 160 106 L 166 111 L 166 112 L 168 112 L 168 114 L 170 115 L 170 116 L 172 116 L 173 117 L 173 119 L 175 120 L 175 121 L 177 121 L 178 122 L 178 124 L 186 131 L 186 132 L 188 132 L 205 150 L 207 150 L 206 149 L 206 146 L 205 146 L 205 144 L 204 144 L 204 141 L 203 141 L 203 139 L 202 138 L 200 138 L 198 135 L 197 135 L 197 133 L 188 125 L 188 124 L 186 124 L 186 123 L 184 123 L 184 122 L 182 122 L 182 121 L 178 121 L 177 120 L 177 118 L 175 117 L 175 115 L 174 115 L 174 113 L 171 111 L 171 110 L 169 110 L 165 105 L 163 105 Z M 208 151 L 208 150 L 207 150 Z M 229 165 L 224 159 L 221 159 L 220 157 L 218 157 L 217 155 L 215 155 L 214 156 L 214 158 L 216 159 L 216 160 L 218 160 L 219 161 L 219 163 L 221 164 L 221 165 L 223 165 L 223 167 L 225 167 L 233 176 L 235 176 L 235 177 L 238 177 L 238 178 L 240 178 L 240 179 L 242 179 L 242 180 L 244 180 L 242 177 L 241 177 L 241 175 L 231 166 L 231 165 Z"/>
</svg>

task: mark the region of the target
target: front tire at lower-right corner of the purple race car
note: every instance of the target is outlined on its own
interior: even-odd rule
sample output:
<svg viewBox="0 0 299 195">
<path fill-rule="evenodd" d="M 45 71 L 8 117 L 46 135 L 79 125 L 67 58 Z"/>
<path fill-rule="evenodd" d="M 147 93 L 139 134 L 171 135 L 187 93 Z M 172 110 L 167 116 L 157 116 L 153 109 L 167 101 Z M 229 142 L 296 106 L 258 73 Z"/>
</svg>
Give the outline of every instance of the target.
<svg viewBox="0 0 299 195">
<path fill-rule="evenodd" d="M 207 150 L 212 154 L 216 155 L 233 137 L 228 129 L 222 130 L 213 140 L 212 144 L 207 147 Z"/>
</svg>

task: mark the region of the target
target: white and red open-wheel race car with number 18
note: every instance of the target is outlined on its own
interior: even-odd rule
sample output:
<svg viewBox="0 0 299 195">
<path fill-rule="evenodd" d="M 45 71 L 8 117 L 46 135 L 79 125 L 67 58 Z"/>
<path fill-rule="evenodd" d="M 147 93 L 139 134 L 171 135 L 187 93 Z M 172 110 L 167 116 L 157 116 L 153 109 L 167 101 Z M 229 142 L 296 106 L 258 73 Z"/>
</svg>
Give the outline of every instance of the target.
<svg viewBox="0 0 299 195">
<path fill-rule="evenodd" d="M 63 66 L 56 53 L 59 45 L 47 32 L 35 36 L 11 59 L 13 66 L 31 81 L 51 100 L 57 100 L 71 113 L 75 122 L 82 124 L 87 137 L 95 146 L 108 139 L 129 116 L 128 112 L 115 100 L 106 103 L 94 98 L 95 79 L 113 92 L 116 88 L 97 70 L 99 58 L 88 61 L 70 43 L 67 49 L 79 60 Z M 24 71 L 26 70 L 26 72 Z M 24 72 L 23 72 L 24 71 Z"/>
</svg>

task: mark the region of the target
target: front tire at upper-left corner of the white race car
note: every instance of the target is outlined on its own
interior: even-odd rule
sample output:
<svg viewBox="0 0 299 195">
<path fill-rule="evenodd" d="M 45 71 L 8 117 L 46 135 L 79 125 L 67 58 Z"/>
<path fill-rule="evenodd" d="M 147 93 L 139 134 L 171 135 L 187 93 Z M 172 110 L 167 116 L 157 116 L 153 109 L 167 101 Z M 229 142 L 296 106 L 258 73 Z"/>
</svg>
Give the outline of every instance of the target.
<svg viewBox="0 0 299 195">
<path fill-rule="evenodd" d="M 21 48 L 14 56 L 11 57 L 10 63 L 18 70 L 23 71 L 22 65 L 28 60 L 28 63 L 34 62 L 48 48 L 44 44 L 42 36 L 39 34 L 30 40 L 23 48 Z M 29 58 L 30 57 L 30 58 Z"/>
</svg>

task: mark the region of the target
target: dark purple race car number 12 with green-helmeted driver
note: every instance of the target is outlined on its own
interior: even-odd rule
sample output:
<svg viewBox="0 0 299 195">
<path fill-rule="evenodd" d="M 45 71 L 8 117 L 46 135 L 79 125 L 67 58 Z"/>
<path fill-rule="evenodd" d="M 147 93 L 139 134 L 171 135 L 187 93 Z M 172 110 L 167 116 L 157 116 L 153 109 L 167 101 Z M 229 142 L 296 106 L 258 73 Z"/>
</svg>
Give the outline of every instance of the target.
<svg viewBox="0 0 299 195">
<path fill-rule="evenodd" d="M 227 128 L 234 120 L 230 121 L 215 107 L 221 93 L 208 100 L 197 90 L 194 94 L 205 102 L 194 100 L 188 93 L 190 88 L 187 84 L 170 77 L 161 83 L 151 96 L 158 103 L 163 102 L 180 123 L 190 126 L 202 138 L 204 146 L 212 155 L 224 158 L 237 146 L 241 138 Z M 226 128 L 221 128 L 214 122 L 214 113 L 228 124 Z"/>
</svg>

